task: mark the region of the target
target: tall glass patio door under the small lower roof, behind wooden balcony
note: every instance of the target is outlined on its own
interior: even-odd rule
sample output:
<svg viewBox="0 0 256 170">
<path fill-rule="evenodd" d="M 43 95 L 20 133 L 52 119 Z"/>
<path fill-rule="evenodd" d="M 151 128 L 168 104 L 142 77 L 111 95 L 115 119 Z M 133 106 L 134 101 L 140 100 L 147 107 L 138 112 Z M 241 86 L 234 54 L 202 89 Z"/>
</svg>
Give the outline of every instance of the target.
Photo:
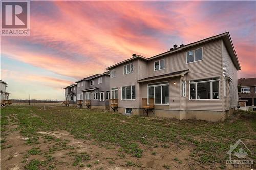
<svg viewBox="0 0 256 170">
<path fill-rule="evenodd" d="M 169 83 L 148 84 L 148 98 L 154 98 L 155 104 L 169 104 Z"/>
</svg>

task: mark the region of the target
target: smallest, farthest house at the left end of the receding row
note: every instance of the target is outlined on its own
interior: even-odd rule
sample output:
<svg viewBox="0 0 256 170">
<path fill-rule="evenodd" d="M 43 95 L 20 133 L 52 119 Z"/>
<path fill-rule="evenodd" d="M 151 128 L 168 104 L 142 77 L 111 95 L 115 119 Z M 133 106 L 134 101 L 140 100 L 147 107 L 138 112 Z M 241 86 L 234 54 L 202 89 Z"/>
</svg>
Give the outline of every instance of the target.
<svg viewBox="0 0 256 170">
<path fill-rule="evenodd" d="M 71 105 L 75 105 L 76 104 L 76 84 L 71 84 L 67 87 L 65 87 L 65 101 L 63 102 L 63 104 L 65 104 L 66 106 Z"/>
</svg>

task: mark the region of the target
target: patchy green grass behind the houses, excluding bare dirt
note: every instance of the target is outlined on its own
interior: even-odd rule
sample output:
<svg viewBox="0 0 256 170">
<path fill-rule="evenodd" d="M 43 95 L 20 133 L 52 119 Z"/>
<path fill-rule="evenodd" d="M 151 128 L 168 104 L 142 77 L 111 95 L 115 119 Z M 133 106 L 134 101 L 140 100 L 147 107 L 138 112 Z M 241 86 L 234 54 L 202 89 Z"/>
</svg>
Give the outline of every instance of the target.
<svg viewBox="0 0 256 170">
<path fill-rule="evenodd" d="M 31 110 L 33 116 L 31 114 Z M 52 112 L 52 114 L 51 114 Z M 196 120 L 175 120 L 165 118 L 147 118 L 138 116 L 123 116 L 106 111 L 76 109 L 72 107 L 47 107 L 46 110 L 37 106 L 8 106 L 1 108 L 1 149 L 5 144 L 5 126 L 9 124 L 8 116 L 15 115 L 18 129 L 23 136 L 29 137 L 26 144 L 37 145 L 38 136 L 43 136 L 45 142 L 56 142 L 49 148 L 49 154 L 59 150 L 72 149 L 68 141 L 56 139 L 50 135 L 38 134 L 38 131 L 64 130 L 73 134 L 77 139 L 94 140 L 94 144 L 107 149 L 120 148 L 120 156 L 130 154 L 143 157 L 145 147 L 169 148 L 170 143 L 178 147 L 192 148 L 191 156 L 204 165 L 210 163 L 225 164 L 228 159 L 226 152 L 230 144 L 238 139 L 253 141 L 256 138 L 256 119 L 240 118 L 234 122 L 205 122 Z M 14 121 L 14 120 L 12 120 Z M 142 138 L 146 136 L 146 138 Z M 33 137 L 33 138 L 31 138 Z M 246 142 L 251 151 L 256 150 L 255 142 Z M 35 147 L 29 154 L 41 154 Z M 73 165 L 90 159 L 90 155 L 83 153 L 69 153 L 74 157 Z M 154 154 L 153 154 L 154 155 Z M 254 158 L 252 155 L 249 157 Z M 36 163 L 36 162 L 34 162 Z M 134 166 L 127 163 L 127 166 Z M 32 167 L 32 164 L 31 164 Z M 33 165 L 36 167 L 36 165 Z M 29 168 L 29 166 L 28 166 Z"/>
</svg>

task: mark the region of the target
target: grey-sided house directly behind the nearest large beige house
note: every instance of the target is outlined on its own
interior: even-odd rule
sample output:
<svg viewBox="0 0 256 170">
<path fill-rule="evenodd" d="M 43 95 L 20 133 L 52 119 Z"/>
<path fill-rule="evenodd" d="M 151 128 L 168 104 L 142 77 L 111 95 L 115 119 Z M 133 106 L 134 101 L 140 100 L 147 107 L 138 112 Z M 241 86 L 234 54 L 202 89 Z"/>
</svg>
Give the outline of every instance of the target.
<svg viewBox="0 0 256 170">
<path fill-rule="evenodd" d="M 109 109 L 109 72 L 92 75 L 77 83 L 77 105 L 82 108 Z"/>
</svg>

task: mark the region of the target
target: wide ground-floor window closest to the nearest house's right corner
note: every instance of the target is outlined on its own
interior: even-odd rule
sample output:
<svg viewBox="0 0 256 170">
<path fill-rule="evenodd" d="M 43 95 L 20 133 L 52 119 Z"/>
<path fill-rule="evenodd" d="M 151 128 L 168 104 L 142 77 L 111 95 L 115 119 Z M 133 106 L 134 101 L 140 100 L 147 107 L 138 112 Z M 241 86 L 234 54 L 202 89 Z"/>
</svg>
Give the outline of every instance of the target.
<svg viewBox="0 0 256 170">
<path fill-rule="evenodd" d="M 190 99 L 220 99 L 220 78 L 190 81 Z"/>
</svg>

